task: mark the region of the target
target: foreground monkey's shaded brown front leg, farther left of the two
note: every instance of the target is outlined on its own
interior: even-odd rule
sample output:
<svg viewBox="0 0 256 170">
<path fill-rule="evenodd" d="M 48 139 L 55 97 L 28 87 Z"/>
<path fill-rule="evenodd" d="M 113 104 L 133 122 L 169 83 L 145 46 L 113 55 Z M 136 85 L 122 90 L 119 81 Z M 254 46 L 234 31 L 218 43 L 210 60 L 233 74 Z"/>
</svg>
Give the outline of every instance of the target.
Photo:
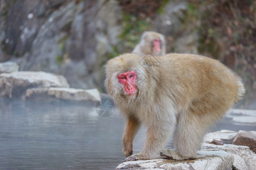
<svg viewBox="0 0 256 170">
<path fill-rule="evenodd" d="M 123 131 L 123 154 L 130 156 L 133 154 L 133 139 L 140 127 L 139 122 L 135 118 L 129 117 Z"/>
</svg>

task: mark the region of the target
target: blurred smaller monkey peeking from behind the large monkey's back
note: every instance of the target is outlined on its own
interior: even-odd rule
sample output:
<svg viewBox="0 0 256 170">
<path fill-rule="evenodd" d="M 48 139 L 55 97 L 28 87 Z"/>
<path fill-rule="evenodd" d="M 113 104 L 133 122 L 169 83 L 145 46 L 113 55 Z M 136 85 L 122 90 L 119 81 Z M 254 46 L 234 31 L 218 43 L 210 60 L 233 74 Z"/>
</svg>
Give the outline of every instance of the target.
<svg viewBox="0 0 256 170">
<path fill-rule="evenodd" d="M 164 35 L 146 31 L 141 37 L 141 41 L 135 46 L 133 53 L 151 54 L 153 56 L 162 56 L 166 54 L 166 40 Z"/>
</svg>

